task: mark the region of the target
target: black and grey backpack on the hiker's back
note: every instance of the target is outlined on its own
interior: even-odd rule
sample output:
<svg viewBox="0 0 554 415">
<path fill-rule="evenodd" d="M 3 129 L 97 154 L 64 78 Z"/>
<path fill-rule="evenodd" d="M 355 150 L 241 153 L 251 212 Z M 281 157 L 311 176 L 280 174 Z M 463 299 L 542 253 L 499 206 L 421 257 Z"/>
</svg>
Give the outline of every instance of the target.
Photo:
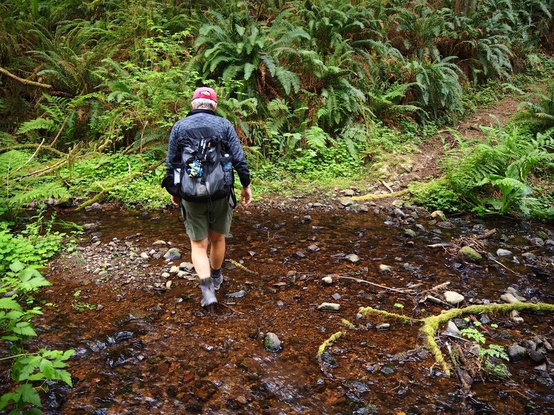
<svg viewBox="0 0 554 415">
<path fill-rule="evenodd" d="M 180 196 L 190 202 L 215 201 L 231 194 L 233 167 L 221 136 L 209 127 L 188 129 L 177 143 Z M 180 161 L 180 163 L 179 163 Z M 224 171 L 225 169 L 225 171 Z M 175 179 L 175 177 L 174 177 Z"/>
</svg>

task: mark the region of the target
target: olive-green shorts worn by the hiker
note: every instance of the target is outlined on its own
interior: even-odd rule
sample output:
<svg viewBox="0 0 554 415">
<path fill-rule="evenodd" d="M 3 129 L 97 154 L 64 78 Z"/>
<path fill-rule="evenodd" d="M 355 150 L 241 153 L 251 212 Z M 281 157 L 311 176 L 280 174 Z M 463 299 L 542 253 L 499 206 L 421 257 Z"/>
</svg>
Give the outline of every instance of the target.
<svg viewBox="0 0 554 415">
<path fill-rule="evenodd" d="M 233 208 L 229 205 L 229 198 L 202 203 L 181 199 L 181 204 L 186 212 L 186 234 L 193 241 L 202 241 L 208 237 L 210 229 L 224 235 L 231 230 Z"/>
</svg>

